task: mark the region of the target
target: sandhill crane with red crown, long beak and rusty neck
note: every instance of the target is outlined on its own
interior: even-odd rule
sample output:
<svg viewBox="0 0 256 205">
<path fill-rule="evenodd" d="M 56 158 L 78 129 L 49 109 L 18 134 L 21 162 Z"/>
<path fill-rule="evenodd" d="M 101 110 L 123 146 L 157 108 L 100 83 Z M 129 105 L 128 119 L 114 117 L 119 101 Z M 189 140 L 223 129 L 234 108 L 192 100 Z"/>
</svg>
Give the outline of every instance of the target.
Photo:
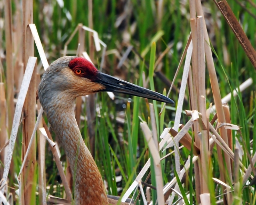
<svg viewBox="0 0 256 205">
<path fill-rule="evenodd" d="M 38 97 L 69 160 L 77 205 L 108 204 L 99 169 L 85 146 L 74 115 L 76 97 L 99 91 L 127 93 L 173 103 L 157 92 L 99 72 L 82 57 L 61 57 L 48 67 L 39 84 Z"/>
</svg>

